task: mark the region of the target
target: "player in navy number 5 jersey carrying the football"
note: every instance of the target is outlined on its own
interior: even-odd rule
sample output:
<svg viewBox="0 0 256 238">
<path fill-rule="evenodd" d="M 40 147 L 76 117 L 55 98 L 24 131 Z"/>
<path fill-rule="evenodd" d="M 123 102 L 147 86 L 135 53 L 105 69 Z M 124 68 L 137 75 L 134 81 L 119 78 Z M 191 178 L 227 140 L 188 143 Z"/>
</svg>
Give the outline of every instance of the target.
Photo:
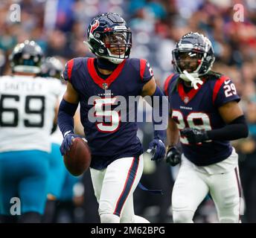
<svg viewBox="0 0 256 238">
<path fill-rule="evenodd" d="M 137 123 L 122 120 L 123 115 L 115 108 L 121 97 L 128 102 L 131 96 L 148 95 L 160 97 L 159 103 L 153 103 L 153 113 L 159 111 L 162 115 L 164 94 L 156 86 L 149 63 L 129 58 L 132 33 L 121 16 L 116 13 L 96 16 L 87 36 L 86 43 L 96 58 L 69 60 L 63 71 L 63 79 L 68 84 L 58 115 L 64 137 L 60 150 L 64 155 L 72 138 L 78 136 L 74 135 L 73 116 L 80 103 L 80 120 L 92 152 L 90 170 L 100 222 L 147 222 L 135 216 L 133 210 L 132 193 L 141 179 L 144 152 L 136 136 Z M 136 106 L 134 110 L 129 106 L 127 116 L 136 111 Z M 96 121 L 90 119 L 92 109 L 91 115 Z M 156 129 L 159 125 L 156 120 L 153 124 L 155 133 L 150 149 L 155 151 L 153 160 L 158 161 L 165 155 L 166 127 Z"/>
</svg>

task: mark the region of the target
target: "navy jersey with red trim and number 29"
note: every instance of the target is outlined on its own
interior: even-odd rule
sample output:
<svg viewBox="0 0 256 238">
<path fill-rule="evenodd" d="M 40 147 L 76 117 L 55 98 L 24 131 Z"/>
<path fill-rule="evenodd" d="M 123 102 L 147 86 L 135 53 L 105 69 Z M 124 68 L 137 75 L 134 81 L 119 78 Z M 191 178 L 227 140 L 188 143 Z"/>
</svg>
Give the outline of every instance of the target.
<svg viewBox="0 0 256 238">
<path fill-rule="evenodd" d="M 179 130 L 185 127 L 196 129 L 219 129 L 225 122 L 218 108 L 232 100 L 237 102 L 240 97 L 232 80 L 224 75 L 208 74 L 199 89 L 185 92 L 179 74 L 171 74 L 164 83 L 164 92 L 169 98 L 171 117 L 176 121 Z M 229 141 L 205 141 L 199 144 L 189 144 L 188 139 L 180 136 L 182 150 L 190 161 L 198 166 L 206 166 L 223 161 L 231 155 L 232 147 Z"/>
</svg>

